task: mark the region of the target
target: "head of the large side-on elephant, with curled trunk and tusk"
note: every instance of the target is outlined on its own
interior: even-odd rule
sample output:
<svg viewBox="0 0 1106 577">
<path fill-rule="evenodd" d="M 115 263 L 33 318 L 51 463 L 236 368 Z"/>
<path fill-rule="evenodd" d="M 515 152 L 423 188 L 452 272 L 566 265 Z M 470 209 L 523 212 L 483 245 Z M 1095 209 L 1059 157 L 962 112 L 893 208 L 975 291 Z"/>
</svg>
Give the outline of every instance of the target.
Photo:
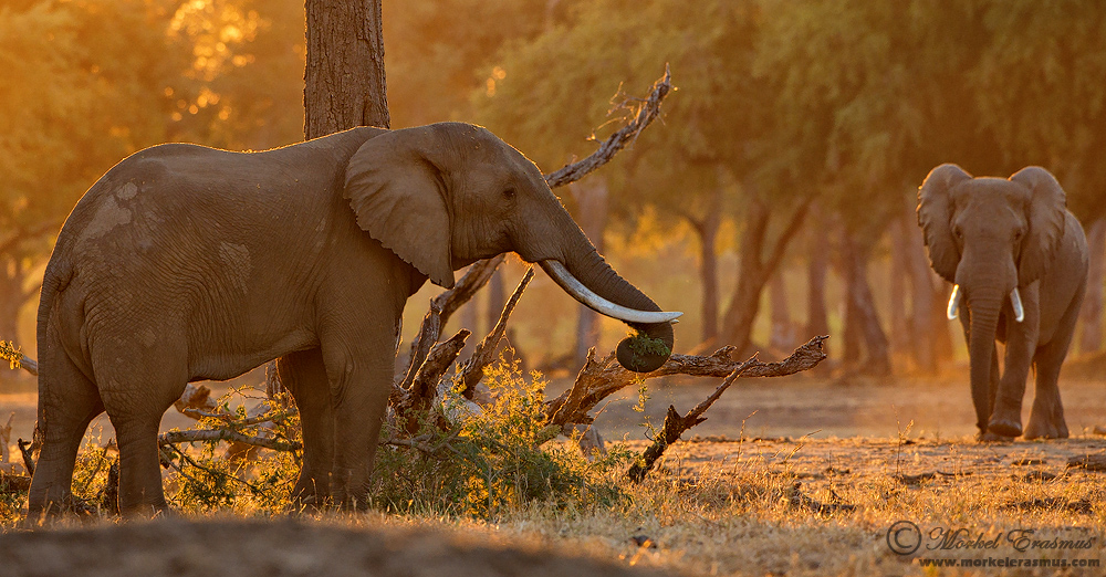
<svg viewBox="0 0 1106 577">
<path fill-rule="evenodd" d="M 441 123 L 372 138 L 349 159 L 344 196 L 363 230 L 439 286 L 451 287 L 462 266 L 513 251 L 581 303 L 650 337 L 644 347 L 641 338 L 619 344 L 627 369 L 655 370 L 671 353 L 680 313 L 661 312 L 619 276 L 538 166 L 484 128 Z"/>
</svg>

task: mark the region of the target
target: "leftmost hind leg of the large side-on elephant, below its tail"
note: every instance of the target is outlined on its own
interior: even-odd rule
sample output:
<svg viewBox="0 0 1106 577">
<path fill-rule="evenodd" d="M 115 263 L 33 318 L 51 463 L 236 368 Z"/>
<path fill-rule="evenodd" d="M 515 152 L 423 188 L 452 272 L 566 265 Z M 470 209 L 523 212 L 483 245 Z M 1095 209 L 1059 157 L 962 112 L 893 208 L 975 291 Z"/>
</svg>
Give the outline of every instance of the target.
<svg viewBox="0 0 1106 577">
<path fill-rule="evenodd" d="M 42 441 L 28 496 L 28 521 L 72 505 L 73 468 L 88 423 L 104 412 L 100 394 L 55 339 L 39 355 L 39 416 Z"/>
</svg>

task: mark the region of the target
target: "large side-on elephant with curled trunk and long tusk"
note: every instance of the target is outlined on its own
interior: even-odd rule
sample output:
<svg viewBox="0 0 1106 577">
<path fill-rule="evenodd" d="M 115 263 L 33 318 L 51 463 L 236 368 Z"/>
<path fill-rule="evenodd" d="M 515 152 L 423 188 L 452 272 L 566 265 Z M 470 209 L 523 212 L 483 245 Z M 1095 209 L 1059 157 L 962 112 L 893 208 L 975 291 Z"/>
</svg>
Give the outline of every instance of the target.
<svg viewBox="0 0 1106 577">
<path fill-rule="evenodd" d="M 644 352 L 619 346 L 626 368 L 665 363 L 680 313 L 615 273 L 538 167 L 481 127 L 136 153 L 76 204 L 45 270 L 31 516 L 71 497 L 77 447 L 104 410 L 121 510 L 164 508 L 161 415 L 189 381 L 278 357 L 303 426 L 293 497 L 364 507 L 404 304 L 427 279 L 450 287 L 453 271 L 508 251 L 651 337 Z"/>
</svg>

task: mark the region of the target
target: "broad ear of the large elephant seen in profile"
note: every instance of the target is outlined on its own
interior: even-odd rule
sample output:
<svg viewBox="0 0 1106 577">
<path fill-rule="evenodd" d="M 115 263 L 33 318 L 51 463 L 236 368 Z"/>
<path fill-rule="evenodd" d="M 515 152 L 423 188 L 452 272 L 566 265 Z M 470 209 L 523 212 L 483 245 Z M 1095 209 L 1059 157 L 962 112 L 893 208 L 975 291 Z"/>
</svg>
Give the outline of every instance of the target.
<svg viewBox="0 0 1106 577">
<path fill-rule="evenodd" d="M 357 224 L 438 286 L 453 286 L 442 143 L 425 127 L 382 134 L 346 166 L 343 196 Z"/>
</svg>

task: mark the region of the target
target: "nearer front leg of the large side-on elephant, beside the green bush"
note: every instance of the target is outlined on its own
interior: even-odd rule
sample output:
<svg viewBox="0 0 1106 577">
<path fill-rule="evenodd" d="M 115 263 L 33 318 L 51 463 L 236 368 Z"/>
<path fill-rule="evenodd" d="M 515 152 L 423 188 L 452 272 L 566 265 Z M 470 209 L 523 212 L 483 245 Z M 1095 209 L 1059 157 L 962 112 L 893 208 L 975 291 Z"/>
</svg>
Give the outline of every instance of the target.
<svg viewBox="0 0 1106 577">
<path fill-rule="evenodd" d="M 326 356 L 334 415 L 331 495 L 340 507 L 368 506 L 369 472 L 392 392 L 393 357 L 390 346 Z"/>
</svg>

